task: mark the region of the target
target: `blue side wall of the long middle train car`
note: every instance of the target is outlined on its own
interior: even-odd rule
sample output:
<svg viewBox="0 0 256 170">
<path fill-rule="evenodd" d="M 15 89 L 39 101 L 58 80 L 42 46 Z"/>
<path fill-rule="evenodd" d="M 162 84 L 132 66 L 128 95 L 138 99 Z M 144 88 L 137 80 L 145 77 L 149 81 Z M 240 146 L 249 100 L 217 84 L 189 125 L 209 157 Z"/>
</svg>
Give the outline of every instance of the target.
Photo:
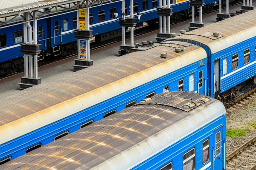
<svg viewBox="0 0 256 170">
<path fill-rule="evenodd" d="M 204 63 L 206 58 L 201 60 Z M 79 130 L 80 126 L 88 121 L 93 120 L 96 122 L 103 118 L 103 116 L 111 111 L 121 111 L 130 102 L 140 102 L 145 99 L 145 96 L 154 92 L 160 94 L 164 91 L 166 86 L 171 90 L 178 90 L 180 79 L 184 80 L 184 91 L 189 91 L 189 76 L 192 74 L 197 75 L 198 71 L 205 71 L 206 65 L 201 65 L 202 62 L 198 61 L 190 65 L 184 66 L 170 74 L 154 79 L 151 82 L 145 83 L 137 88 L 129 90 L 123 94 L 115 96 L 83 111 L 67 116 L 57 122 L 51 123 L 37 130 L 34 130 L 26 135 L 20 136 L 17 139 L 6 142 L 0 145 L 2 153 L 0 160 L 11 156 L 12 159 L 23 155 L 29 147 L 35 144 L 45 145 L 54 140 L 54 137 L 60 133 L 68 131 L 72 133 Z M 195 76 L 196 77 L 196 76 Z M 197 91 L 198 79 L 194 80 L 194 91 Z M 204 88 L 203 88 L 204 89 Z"/>
</svg>

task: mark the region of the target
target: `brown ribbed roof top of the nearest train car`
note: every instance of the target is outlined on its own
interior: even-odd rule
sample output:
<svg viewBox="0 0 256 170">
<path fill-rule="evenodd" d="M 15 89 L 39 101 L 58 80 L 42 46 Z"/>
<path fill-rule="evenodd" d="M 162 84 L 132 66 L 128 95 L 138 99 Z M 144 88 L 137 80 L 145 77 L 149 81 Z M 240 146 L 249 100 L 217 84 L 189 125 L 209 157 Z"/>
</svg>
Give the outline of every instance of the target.
<svg viewBox="0 0 256 170">
<path fill-rule="evenodd" d="M 144 105 L 113 114 L 3 164 L 0 169 L 90 169 L 217 101 L 208 99 L 208 96 L 186 91 L 155 95 Z M 197 107 L 188 112 L 177 109 L 191 102 Z"/>
</svg>

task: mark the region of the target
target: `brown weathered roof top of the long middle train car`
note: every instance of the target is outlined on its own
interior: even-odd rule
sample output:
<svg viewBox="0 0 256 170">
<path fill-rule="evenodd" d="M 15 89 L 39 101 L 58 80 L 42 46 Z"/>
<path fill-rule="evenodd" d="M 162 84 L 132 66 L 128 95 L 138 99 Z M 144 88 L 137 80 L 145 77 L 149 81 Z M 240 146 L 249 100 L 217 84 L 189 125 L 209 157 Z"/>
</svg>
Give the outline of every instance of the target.
<svg viewBox="0 0 256 170">
<path fill-rule="evenodd" d="M 45 82 L 1 99 L 0 126 L 199 48 L 190 45 L 186 46 L 184 52 L 175 53 L 174 47 L 179 45 L 166 44 L 144 51 L 143 54 L 127 54 L 122 59 L 117 58 L 115 62 L 93 66 L 75 72 L 70 77 Z M 167 59 L 160 58 L 160 53 L 163 52 L 168 53 Z"/>
</svg>

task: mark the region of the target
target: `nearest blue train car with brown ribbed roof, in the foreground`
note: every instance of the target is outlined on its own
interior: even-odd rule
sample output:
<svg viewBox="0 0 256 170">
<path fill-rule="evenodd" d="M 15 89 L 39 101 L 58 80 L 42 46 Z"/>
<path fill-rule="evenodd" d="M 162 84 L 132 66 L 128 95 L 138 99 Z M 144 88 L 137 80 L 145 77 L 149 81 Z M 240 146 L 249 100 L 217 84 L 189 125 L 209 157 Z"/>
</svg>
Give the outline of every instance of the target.
<svg viewBox="0 0 256 170">
<path fill-rule="evenodd" d="M 225 111 L 202 94 L 158 94 L 0 169 L 225 170 Z"/>
</svg>

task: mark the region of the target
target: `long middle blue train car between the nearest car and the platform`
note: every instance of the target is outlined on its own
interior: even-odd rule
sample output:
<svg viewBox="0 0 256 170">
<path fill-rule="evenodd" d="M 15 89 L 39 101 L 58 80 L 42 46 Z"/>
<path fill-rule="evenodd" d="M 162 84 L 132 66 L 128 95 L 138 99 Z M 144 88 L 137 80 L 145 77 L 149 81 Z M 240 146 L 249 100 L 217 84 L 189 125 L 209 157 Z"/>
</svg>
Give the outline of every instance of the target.
<svg viewBox="0 0 256 170">
<path fill-rule="evenodd" d="M 175 52 L 178 47 L 184 50 Z M 0 164 L 155 94 L 169 90 L 205 94 L 203 48 L 187 42 L 147 48 L 134 49 L 122 61 L 81 70 L 2 99 Z M 167 58 L 160 57 L 163 51 Z"/>
</svg>

